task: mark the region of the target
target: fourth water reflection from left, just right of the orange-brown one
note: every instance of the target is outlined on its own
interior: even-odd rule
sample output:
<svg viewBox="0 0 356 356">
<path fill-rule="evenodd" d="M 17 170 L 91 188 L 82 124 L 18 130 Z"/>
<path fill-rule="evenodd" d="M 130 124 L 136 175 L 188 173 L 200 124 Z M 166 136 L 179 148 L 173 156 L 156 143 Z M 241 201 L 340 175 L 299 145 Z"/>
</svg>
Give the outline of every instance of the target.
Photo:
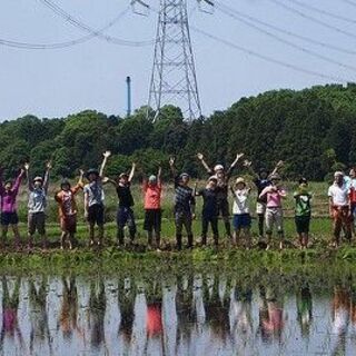
<svg viewBox="0 0 356 356">
<path fill-rule="evenodd" d="M 99 281 L 99 290 L 96 288 L 96 283 L 90 283 L 89 296 L 89 327 L 91 328 L 91 346 L 99 348 L 105 344 L 105 312 L 107 307 L 107 299 L 105 295 L 103 281 Z"/>
</svg>

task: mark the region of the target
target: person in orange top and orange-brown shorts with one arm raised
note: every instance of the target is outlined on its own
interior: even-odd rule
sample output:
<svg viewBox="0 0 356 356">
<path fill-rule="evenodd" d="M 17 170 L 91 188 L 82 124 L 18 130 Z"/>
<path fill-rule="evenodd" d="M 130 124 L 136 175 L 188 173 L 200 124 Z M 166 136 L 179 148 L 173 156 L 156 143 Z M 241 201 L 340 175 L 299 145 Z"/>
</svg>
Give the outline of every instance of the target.
<svg viewBox="0 0 356 356">
<path fill-rule="evenodd" d="M 55 200 L 58 202 L 58 214 L 60 220 L 60 248 L 65 248 L 68 244 L 69 249 L 72 249 L 75 235 L 77 233 L 77 201 L 76 195 L 83 188 L 82 178 L 83 170 L 79 170 L 80 176 L 77 185 L 71 187 L 68 179 L 63 179 L 60 185 L 60 191 L 55 195 Z"/>
</svg>

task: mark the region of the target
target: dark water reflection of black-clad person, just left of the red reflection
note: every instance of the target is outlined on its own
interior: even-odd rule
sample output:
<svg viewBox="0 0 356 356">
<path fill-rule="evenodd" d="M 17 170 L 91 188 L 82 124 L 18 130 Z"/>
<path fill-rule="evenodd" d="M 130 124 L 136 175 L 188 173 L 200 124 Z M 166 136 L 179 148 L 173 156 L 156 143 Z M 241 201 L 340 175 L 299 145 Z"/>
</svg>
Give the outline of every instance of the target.
<svg viewBox="0 0 356 356">
<path fill-rule="evenodd" d="M 125 342 L 129 345 L 132 336 L 135 319 L 135 298 L 136 285 L 130 279 L 130 285 L 126 285 L 125 279 L 120 278 L 118 284 L 118 304 L 121 314 L 119 335 L 122 335 Z"/>
</svg>

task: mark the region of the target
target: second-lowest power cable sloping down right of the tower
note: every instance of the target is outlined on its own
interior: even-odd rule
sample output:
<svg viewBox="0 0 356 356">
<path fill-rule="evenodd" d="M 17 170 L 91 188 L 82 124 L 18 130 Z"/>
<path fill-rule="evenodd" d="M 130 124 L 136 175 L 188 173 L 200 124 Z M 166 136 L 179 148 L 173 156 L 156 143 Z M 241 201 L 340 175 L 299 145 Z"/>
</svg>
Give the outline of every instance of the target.
<svg viewBox="0 0 356 356">
<path fill-rule="evenodd" d="M 289 46 L 289 47 L 291 47 L 291 48 L 294 48 L 294 49 L 296 49 L 296 50 L 299 50 L 299 51 L 301 51 L 301 52 L 304 52 L 304 53 L 307 53 L 307 55 L 313 56 L 313 57 L 315 57 L 315 58 L 322 59 L 322 60 L 327 61 L 327 62 L 329 62 L 329 63 L 333 63 L 333 65 L 336 65 L 336 66 L 339 66 L 339 67 L 343 67 L 343 68 L 346 68 L 346 69 L 356 71 L 356 67 L 353 67 L 353 66 L 349 66 L 349 65 L 345 65 L 345 63 L 339 62 L 339 61 L 337 61 L 337 60 L 335 60 L 335 59 L 333 59 L 333 58 L 330 58 L 330 57 L 320 55 L 320 53 L 318 53 L 318 52 L 316 52 L 316 51 L 313 51 L 313 50 L 309 50 L 309 49 L 307 49 L 307 48 L 305 48 L 305 47 L 303 47 L 303 46 L 299 46 L 299 44 L 296 44 L 296 43 L 294 43 L 294 42 L 290 42 L 290 41 L 288 41 L 288 40 L 286 40 L 286 39 L 283 39 L 283 38 L 280 38 L 279 36 L 274 34 L 274 33 L 271 33 L 271 32 L 269 32 L 269 31 L 267 31 L 267 30 L 264 30 L 263 28 L 254 24 L 253 22 L 250 22 L 250 21 L 248 21 L 248 20 L 246 20 L 246 19 L 244 19 L 244 18 L 241 18 L 241 17 L 238 17 L 238 16 L 234 14 L 234 13 L 230 12 L 230 11 L 227 11 L 227 10 L 225 10 L 224 8 L 219 7 L 219 6 L 217 6 L 217 9 L 218 9 L 220 12 L 229 16 L 230 18 L 233 18 L 233 19 L 235 19 L 235 20 L 237 20 L 237 21 L 239 21 L 239 22 L 241 22 L 241 23 L 244 23 L 244 24 L 246 24 L 246 26 L 248 26 L 248 27 L 250 27 L 250 28 L 253 28 L 253 29 L 255 29 L 255 30 L 257 30 L 257 31 L 259 31 L 259 32 L 261 32 L 261 33 L 270 37 L 270 38 L 273 38 L 273 39 L 275 39 L 276 41 L 279 41 L 279 42 L 281 42 L 281 43 L 286 44 L 286 46 Z"/>
</svg>

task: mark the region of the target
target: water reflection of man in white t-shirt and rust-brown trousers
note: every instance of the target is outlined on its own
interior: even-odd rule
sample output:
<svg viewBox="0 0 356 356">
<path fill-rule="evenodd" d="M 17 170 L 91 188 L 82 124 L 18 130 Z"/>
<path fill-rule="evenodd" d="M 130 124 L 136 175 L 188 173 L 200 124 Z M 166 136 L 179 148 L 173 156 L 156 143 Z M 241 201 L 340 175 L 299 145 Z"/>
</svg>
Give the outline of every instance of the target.
<svg viewBox="0 0 356 356">
<path fill-rule="evenodd" d="M 333 355 L 346 355 L 346 334 L 350 312 L 349 290 L 342 286 L 334 288 L 333 298 L 333 332 L 337 335 L 337 343 Z"/>
</svg>

